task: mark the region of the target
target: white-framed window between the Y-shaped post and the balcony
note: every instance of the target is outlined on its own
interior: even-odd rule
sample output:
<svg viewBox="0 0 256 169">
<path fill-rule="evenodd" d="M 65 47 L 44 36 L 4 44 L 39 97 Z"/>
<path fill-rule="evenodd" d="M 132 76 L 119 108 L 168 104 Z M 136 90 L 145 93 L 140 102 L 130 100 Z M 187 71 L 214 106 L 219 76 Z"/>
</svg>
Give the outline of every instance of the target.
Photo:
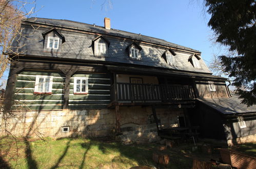
<svg viewBox="0 0 256 169">
<path fill-rule="evenodd" d="M 74 77 L 74 94 L 88 94 L 87 77 Z"/>
</svg>

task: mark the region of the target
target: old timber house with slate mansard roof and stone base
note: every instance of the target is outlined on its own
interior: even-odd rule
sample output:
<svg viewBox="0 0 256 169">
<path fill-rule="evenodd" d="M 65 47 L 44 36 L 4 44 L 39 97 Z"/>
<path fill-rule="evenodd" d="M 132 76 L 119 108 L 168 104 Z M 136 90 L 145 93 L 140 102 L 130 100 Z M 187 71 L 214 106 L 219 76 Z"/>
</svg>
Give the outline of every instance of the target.
<svg viewBox="0 0 256 169">
<path fill-rule="evenodd" d="M 119 133 L 128 142 L 153 141 L 162 129 L 195 124 L 204 131 L 205 124 L 196 119 L 216 109 L 204 109 L 211 104 L 204 99 L 232 98 L 228 79 L 212 75 L 200 51 L 111 29 L 109 18 L 104 23 L 22 21 L 25 37 L 13 42 L 19 55 L 5 92 L 5 111 L 16 115 L 8 123 L 11 132 L 50 137 Z M 248 135 L 255 133 L 253 126 Z"/>
</svg>

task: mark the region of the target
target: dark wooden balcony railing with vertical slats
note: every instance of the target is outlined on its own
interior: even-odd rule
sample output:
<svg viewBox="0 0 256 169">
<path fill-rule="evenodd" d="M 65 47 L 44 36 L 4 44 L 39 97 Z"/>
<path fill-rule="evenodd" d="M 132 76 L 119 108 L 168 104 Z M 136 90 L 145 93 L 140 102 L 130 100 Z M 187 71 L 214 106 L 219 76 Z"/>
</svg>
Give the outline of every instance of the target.
<svg viewBox="0 0 256 169">
<path fill-rule="evenodd" d="M 192 86 L 114 83 L 112 101 L 175 101 L 194 99 Z"/>
</svg>

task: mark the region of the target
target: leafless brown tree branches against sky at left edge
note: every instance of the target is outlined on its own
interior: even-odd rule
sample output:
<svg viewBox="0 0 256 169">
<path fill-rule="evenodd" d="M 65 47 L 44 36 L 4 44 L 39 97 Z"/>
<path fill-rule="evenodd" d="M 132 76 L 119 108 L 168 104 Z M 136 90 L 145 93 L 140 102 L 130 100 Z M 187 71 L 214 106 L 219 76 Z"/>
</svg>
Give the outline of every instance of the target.
<svg viewBox="0 0 256 169">
<path fill-rule="evenodd" d="M 26 5 L 35 4 L 35 1 L 0 0 L 0 78 L 3 76 L 12 58 L 8 58 L 6 51 L 13 54 L 13 57 L 21 55 L 18 48 L 13 47 L 13 40 L 23 37 L 21 21 L 23 18 L 33 14 L 34 8 L 29 11 Z"/>
</svg>

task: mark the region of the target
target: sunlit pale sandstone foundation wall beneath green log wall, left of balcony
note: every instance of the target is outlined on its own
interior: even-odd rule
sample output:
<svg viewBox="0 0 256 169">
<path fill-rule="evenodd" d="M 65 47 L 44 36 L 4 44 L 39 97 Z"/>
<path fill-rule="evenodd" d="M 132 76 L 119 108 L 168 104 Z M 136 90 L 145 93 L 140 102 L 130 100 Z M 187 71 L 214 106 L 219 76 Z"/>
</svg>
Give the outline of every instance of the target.
<svg viewBox="0 0 256 169">
<path fill-rule="evenodd" d="M 113 110 L 62 110 L 13 112 L 6 123 L 9 132 L 16 136 L 75 137 L 108 136 L 113 133 L 115 115 Z M 0 135 L 4 135 L 4 120 Z M 69 131 L 63 131 L 63 127 Z"/>
</svg>

